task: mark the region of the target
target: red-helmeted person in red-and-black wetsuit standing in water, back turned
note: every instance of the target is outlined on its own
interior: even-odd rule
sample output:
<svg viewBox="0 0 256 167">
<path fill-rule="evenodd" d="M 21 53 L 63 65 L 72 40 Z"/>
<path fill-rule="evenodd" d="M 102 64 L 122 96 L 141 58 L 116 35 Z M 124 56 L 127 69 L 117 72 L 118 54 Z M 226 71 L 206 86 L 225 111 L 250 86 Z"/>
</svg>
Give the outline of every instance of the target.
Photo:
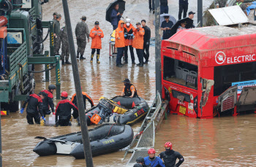
<svg viewBox="0 0 256 167">
<path fill-rule="evenodd" d="M 71 109 L 73 109 L 73 117 L 78 117 L 78 108 L 71 101 L 67 100 L 67 92 L 61 93 L 61 101 L 56 106 L 56 126 L 68 126 L 71 125 Z"/>
</svg>

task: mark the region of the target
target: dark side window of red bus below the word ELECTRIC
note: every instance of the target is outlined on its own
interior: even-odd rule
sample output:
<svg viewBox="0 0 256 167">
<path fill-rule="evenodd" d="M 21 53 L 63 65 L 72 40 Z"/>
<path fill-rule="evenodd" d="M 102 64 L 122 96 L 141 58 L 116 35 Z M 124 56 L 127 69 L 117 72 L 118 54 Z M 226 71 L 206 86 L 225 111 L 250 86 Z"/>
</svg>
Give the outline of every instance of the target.
<svg viewBox="0 0 256 167">
<path fill-rule="evenodd" d="M 238 70 L 239 69 L 239 70 Z M 256 62 L 237 63 L 214 67 L 214 96 L 219 96 L 231 87 L 233 82 L 256 79 Z"/>
</svg>

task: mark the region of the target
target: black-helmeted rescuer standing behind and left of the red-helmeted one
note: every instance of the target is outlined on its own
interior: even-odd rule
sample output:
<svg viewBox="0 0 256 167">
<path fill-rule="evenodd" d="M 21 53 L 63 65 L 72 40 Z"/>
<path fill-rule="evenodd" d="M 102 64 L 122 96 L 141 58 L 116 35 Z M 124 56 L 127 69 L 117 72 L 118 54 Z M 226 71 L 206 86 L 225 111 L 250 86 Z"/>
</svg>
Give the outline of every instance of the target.
<svg viewBox="0 0 256 167">
<path fill-rule="evenodd" d="M 45 93 L 45 98 L 42 100 L 42 112 L 44 114 L 50 114 L 51 112 L 54 112 L 54 104 L 53 104 L 53 92 L 56 90 L 55 85 L 49 85 L 48 90 L 42 90 L 41 93 Z"/>
</svg>

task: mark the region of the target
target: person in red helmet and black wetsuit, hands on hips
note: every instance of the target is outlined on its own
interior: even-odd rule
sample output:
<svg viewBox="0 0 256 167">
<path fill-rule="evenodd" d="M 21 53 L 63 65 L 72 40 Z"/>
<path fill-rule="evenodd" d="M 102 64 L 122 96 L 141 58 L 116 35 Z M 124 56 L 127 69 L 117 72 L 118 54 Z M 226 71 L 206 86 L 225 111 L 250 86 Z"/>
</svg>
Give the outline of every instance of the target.
<svg viewBox="0 0 256 167">
<path fill-rule="evenodd" d="M 164 160 L 166 167 L 178 167 L 184 162 L 183 156 L 173 150 L 173 144 L 170 142 L 165 143 L 165 152 L 161 152 L 159 158 Z M 178 163 L 176 163 L 177 158 L 179 159 Z"/>
</svg>

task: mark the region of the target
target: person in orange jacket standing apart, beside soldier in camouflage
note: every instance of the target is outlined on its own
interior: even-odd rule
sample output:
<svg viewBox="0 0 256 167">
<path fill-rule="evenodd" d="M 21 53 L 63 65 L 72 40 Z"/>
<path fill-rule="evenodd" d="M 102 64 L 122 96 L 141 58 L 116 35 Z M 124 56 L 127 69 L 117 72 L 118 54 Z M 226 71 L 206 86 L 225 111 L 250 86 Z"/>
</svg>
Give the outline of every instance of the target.
<svg viewBox="0 0 256 167">
<path fill-rule="evenodd" d="M 97 50 L 97 63 L 99 61 L 100 50 L 102 49 L 102 38 L 104 37 L 102 29 L 99 28 L 99 22 L 96 21 L 94 23 L 94 28 L 91 29 L 90 37 L 91 37 L 91 63 L 94 60 L 94 53 Z"/>
</svg>

